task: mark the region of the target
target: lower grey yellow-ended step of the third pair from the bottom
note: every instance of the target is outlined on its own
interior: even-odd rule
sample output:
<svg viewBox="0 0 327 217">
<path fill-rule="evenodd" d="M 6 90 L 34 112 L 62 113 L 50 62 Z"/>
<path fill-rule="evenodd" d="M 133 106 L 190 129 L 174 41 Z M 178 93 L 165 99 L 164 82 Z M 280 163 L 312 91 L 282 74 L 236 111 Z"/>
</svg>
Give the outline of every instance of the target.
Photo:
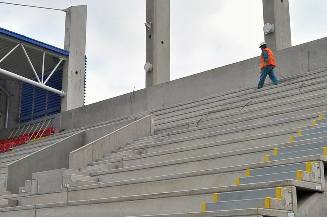
<svg viewBox="0 0 327 217">
<path fill-rule="evenodd" d="M 266 161 L 276 161 L 281 159 L 297 158 L 297 157 L 310 156 L 315 154 L 326 156 L 327 147 L 305 149 L 305 150 L 287 152 L 282 154 L 266 155 Z"/>
</svg>

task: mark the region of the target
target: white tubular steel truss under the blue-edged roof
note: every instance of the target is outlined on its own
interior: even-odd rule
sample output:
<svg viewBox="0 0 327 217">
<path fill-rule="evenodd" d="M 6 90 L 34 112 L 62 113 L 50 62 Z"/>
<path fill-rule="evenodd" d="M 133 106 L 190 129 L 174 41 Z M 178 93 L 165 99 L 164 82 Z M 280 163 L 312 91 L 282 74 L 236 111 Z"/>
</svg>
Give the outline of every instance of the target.
<svg viewBox="0 0 327 217">
<path fill-rule="evenodd" d="M 65 97 L 66 96 L 66 93 L 64 92 L 64 91 L 62 91 L 62 90 L 57 90 L 57 89 L 55 89 L 55 88 L 53 88 L 53 87 L 50 87 L 50 86 L 47 86 L 47 85 L 45 85 L 46 83 L 47 83 L 47 81 L 50 79 L 50 77 L 52 76 L 52 74 L 55 72 L 55 70 L 58 68 L 58 66 L 60 65 L 60 63 L 64 60 L 64 58 L 63 57 L 59 57 L 59 59 L 60 59 L 60 61 L 58 62 L 58 64 L 56 65 L 56 67 L 51 71 L 51 73 L 49 74 L 49 76 L 47 77 L 47 79 L 43 82 L 43 74 L 44 74 L 44 56 L 45 56 L 45 52 L 43 51 L 43 61 L 42 61 L 42 77 L 41 77 L 41 81 L 40 81 L 40 79 L 39 79 L 39 76 L 38 76 L 38 74 L 37 74 L 37 72 L 35 71 L 35 69 L 34 69 L 34 66 L 33 66 L 33 64 L 32 64 L 32 62 L 31 62 L 31 60 L 30 60 L 30 58 L 29 58 L 29 56 L 28 56 L 28 54 L 27 54 L 27 52 L 26 52 L 26 50 L 25 50 L 25 47 L 24 47 L 24 45 L 22 44 L 22 43 L 18 43 L 14 48 L 12 48 L 1 60 L 0 60 L 0 63 L 7 57 L 7 56 L 9 56 L 9 54 L 11 54 L 19 45 L 21 45 L 21 47 L 22 47 L 22 49 L 23 49 L 23 51 L 24 51 L 24 53 L 25 53 L 25 55 L 26 55 L 26 58 L 27 58 L 27 60 L 28 60 L 28 62 L 29 62 L 29 65 L 31 66 L 31 68 L 32 68 L 32 70 L 33 70 L 33 72 L 34 72 L 34 74 L 35 74 L 35 77 L 37 78 L 37 80 L 38 80 L 38 82 L 36 82 L 36 81 L 33 81 L 33 80 L 31 80 L 31 79 L 29 79 L 29 78 L 26 78 L 26 77 L 23 77 L 23 76 L 21 76 L 21 75 L 18 75 L 18 74 L 15 74 L 15 73 L 13 73 L 13 72 L 10 72 L 10 71 L 7 71 L 7 70 L 4 70 L 4 69 L 2 69 L 2 68 L 0 68 L 0 73 L 2 73 L 2 74 L 5 74 L 5 75 L 7 75 L 7 76 L 10 76 L 10 77 L 12 77 L 12 78 L 15 78 L 15 79 L 18 79 L 18 80 L 20 80 L 20 81 L 24 81 L 24 82 L 26 82 L 26 83 L 29 83 L 29 84 L 31 84 L 31 85 L 34 85 L 34 86 L 38 86 L 38 87 L 40 87 L 40 88 L 43 88 L 43 89 L 45 89 L 45 90 L 48 90 L 48 91 L 51 91 L 51 92 L 53 92 L 53 93 L 56 93 L 56 94 L 58 94 L 58 95 L 60 95 L 61 97 Z"/>
</svg>

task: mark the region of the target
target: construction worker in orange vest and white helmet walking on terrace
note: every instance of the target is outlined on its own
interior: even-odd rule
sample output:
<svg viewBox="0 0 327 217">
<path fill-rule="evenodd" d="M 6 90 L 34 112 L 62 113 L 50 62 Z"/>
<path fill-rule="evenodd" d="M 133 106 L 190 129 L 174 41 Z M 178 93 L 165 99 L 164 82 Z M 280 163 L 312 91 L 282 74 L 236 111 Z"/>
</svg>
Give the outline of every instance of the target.
<svg viewBox="0 0 327 217">
<path fill-rule="evenodd" d="M 278 80 L 274 74 L 274 68 L 276 67 L 274 53 L 269 48 L 267 48 L 266 42 L 260 43 L 259 48 L 262 51 L 259 68 L 261 70 L 261 76 L 258 86 L 256 86 L 254 89 L 260 89 L 263 87 L 267 75 L 269 75 L 269 78 L 274 83 L 274 85 L 278 85 Z"/>
</svg>

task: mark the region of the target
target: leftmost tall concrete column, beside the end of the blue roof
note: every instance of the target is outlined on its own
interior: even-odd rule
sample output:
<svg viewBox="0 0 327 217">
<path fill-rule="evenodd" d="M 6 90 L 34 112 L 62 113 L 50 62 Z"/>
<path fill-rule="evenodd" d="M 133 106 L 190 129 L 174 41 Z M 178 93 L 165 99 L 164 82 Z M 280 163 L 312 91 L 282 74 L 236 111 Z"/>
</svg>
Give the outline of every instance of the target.
<svg viewBox="0 0 327 217">
<path fill-rule="evenodd" d="M 85 43 L 87 6 L 67 8 L 65 25 L 65 50 L 69 58 L 63 65 L 61 111 L 71 110 L 84 104 Z"/>
</svg>

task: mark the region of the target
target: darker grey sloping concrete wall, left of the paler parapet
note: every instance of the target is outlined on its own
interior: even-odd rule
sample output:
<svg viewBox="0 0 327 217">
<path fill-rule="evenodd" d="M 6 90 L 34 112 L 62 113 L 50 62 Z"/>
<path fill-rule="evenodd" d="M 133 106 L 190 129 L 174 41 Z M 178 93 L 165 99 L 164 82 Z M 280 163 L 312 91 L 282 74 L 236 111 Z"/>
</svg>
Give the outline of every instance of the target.
<svg viewBox="0 0 327 217">
<path fill-rule="evenodd" d="M 69 152 L 84 144 L 84 132 L 78 132 L 49 147 L 30 154 L 19 161 L 7 165 L 7 191 L 18 193 L 18 188 L 25 186 L 25 180 L 32 178 L 32 173 L 68 168 Z"/>
</svg>

